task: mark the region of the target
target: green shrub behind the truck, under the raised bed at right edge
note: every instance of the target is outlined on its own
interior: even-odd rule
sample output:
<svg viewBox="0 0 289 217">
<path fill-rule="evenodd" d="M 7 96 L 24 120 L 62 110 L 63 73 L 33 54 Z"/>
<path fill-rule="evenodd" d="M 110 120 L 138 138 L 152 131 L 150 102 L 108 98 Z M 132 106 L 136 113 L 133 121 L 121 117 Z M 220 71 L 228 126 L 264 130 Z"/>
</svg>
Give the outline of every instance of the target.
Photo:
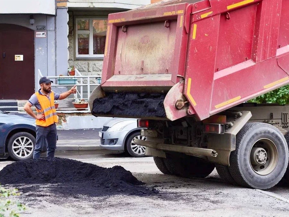
<svg viewBox="0 0 289 217">
<path fill-rule="evenodd" d="M 289 85 L 280 87 L 269 93 L 251 99 L 248 102 L 256 103 L 278 103 L 280 105 L 289 104 Z"/>
</svg>

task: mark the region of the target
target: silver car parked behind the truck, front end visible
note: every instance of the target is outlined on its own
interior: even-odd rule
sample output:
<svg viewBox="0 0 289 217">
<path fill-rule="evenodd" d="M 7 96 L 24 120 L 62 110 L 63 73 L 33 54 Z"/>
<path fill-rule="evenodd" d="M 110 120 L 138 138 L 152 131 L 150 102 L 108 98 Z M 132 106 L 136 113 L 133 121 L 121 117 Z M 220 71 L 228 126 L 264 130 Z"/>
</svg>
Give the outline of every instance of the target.
<svg viewBox="0 0 289 217">
<path fill-rule="evenodd" d="M 145 140 L 141 136 L 141 128 L 137 127 L 137 119 L 111 118 L 105 122 L 101 131 L 101 147 L 108 150 L 118 150 L 129 153 L 133 157 L 144 157 L 145 146 L 133 144 L 134 139 Z"/>
</svg>

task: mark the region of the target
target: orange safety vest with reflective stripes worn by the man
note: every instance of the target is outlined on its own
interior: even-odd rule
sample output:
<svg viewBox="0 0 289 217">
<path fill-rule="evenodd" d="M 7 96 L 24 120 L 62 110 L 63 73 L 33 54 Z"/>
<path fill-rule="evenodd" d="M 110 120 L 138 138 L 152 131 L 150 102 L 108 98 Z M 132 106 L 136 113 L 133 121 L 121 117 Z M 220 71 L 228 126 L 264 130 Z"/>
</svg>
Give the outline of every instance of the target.
<svg viewBox="0 0 289 217">
<path fill-rule="evenodd" d="M 37 96 L 37 99 L 41 105 L 41 110 L 36 108 L 37 114 L 44 114 L 45 120 L 37 120 L 36 119 L 36 125 L 47 127 L 51 124 L 58 122 L 58 116 L 56 114 L 56 109 L 54 106 L 54 93 L 51 91 L 49 94 L 50 100 L 47 96 L 40 94 L 39 92 L 36 92 L 35 95 Z"/>
</svg>

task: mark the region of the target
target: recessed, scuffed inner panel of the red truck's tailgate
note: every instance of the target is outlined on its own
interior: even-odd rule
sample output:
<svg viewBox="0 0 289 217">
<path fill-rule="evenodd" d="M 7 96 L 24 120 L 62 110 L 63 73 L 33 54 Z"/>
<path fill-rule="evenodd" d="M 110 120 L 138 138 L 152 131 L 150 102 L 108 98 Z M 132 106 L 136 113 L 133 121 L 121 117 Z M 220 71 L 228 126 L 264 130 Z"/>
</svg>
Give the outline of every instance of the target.
<svg viewBox="0 0 289 217">
<path fill-rule="evenodd" d="M 118 28 L 114 76 L 169 74 L 173 68 L 177 20 Z"/>
</svg>

